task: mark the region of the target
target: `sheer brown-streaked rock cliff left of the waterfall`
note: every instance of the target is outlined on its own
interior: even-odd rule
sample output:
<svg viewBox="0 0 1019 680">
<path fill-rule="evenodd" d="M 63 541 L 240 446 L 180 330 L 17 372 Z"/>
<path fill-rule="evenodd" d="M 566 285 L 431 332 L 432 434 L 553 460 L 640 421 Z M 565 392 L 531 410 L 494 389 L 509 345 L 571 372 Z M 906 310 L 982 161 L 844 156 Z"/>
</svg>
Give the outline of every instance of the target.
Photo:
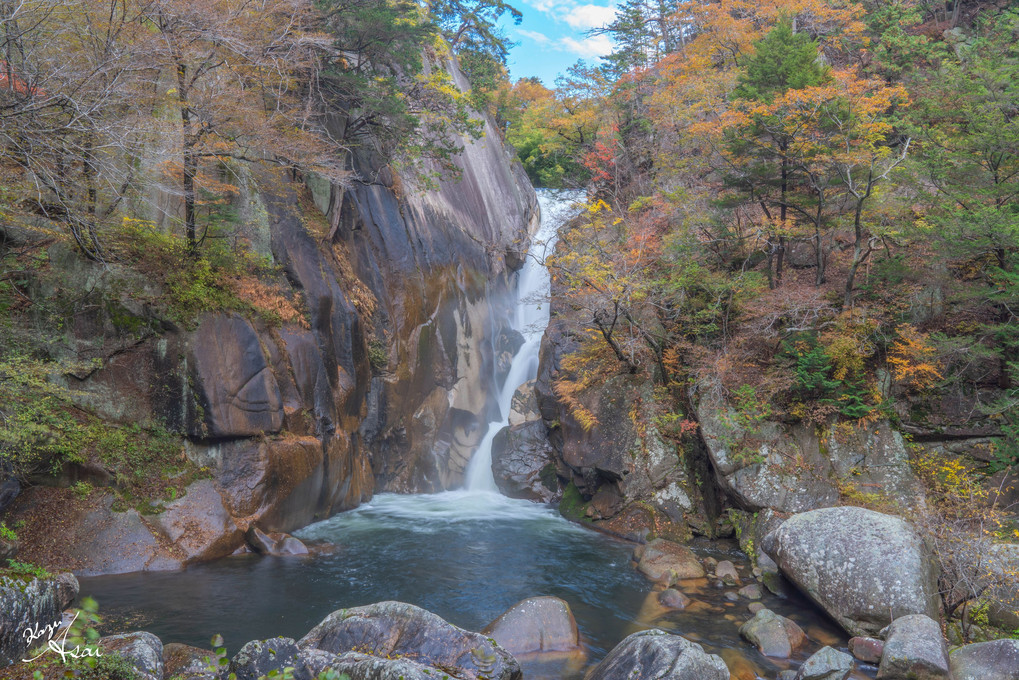
<svg viewBox="0 0 1019 680">
<path fill-rule="evenodd" d="M 56 529 L 68 534 L 57 543 L 82 545 L 26 558 L 88 574 L 178 568 L 229 555 L 252 526 L 290 532 L 376 489 L 461 483 L 496 408 L 513 269 L 539 217 L 500 139 L 486 122 L 483 138 L 463 140 L 460 177 L 437 185 L 357 154 L 352 170 L 372 181 L 243 171 L 234 236 L 278 268 L 267 276 L 301 313 L 278 325 L 228 311 L 175 323 L 146 302 L 161 292 L 140 272 L 50 247 L 62 278 L 40 295 L 76 285 L 104 301 L 68 324 L 68 358 L 102 360 L 67 376 L 78 405 L 164 425 L 210 478 L 152 515 L 100 492 Z M 0 472 L 0 505 L 18 490 Z M 21 492 L 12 519 L 33 520 L 39 495 Z"/>
</svg>

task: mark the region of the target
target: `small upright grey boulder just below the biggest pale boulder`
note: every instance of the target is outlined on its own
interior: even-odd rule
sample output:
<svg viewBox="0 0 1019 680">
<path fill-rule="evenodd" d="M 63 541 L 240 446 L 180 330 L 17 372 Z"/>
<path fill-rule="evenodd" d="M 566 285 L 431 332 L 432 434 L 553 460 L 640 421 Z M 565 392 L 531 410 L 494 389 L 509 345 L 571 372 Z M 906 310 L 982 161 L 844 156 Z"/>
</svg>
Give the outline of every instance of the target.
<svg viewBox="0 0 1019 680">
<path fill-rule="evenodd" d="M 888 627 L 879 680 L 947 680 L 952 677 L 949 653 L 941 625 L 930 617 L 913 614 Z"/>
</svg>

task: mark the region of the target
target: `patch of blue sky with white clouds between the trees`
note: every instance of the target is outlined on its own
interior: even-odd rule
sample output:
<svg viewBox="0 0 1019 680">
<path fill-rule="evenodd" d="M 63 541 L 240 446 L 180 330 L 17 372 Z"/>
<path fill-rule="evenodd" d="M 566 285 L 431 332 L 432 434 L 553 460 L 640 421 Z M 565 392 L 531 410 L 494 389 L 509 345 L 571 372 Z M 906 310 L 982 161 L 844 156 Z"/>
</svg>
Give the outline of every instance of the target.
<svg viewBox="0 0 1019 680">
<path fill-rule="evenodd" d="M 507 59 L 514 81 L 537 75 L 552 87 L 555 76 L 578 59 L 597 61 L 612 50 L 608 36 L 587 35 L 612 20 L 611 1 L 511 0 L 511 4 L 524 14 L 520 25 L 505 27 L 518 43 Z"/>
</svg>

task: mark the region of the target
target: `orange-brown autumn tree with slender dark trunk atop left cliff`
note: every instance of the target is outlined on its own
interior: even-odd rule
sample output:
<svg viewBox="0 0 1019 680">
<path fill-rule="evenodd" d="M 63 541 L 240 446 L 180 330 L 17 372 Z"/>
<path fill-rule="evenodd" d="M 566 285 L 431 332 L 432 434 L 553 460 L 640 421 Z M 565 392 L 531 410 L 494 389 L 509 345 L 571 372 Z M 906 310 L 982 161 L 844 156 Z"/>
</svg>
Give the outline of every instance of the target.
<svg viewBox="0 0 1019 680">
<path fill-rule="evenodd" d="M 314 136 L 324 130 L 301 98 L 298 77 L 310 73 L 316 49 L 328 45 L 308 31 L 309 11 L 302 0 L 153 0 L 145 6 L 153 33 L 143 55 L 177 112 L 177 160 L 166 173 L 180 182 L 193 253 L 204 238 L 198 192 L 214 180 L 200 176 L 203 161 L 304 165 L 343 176 L 335 150 L 319 151 L 328 138 Z"/>
</svg>

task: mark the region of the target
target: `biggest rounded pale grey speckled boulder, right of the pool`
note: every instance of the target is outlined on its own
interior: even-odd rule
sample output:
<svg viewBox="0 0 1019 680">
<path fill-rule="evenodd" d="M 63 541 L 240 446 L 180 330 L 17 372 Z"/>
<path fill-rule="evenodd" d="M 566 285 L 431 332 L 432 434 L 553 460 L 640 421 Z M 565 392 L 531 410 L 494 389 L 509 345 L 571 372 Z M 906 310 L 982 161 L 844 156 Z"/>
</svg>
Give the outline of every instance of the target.
<svg viewBox="0 0 1019 680">
<path fill-rule="evenodd" d="M 765 543 L 783 573 L 854 635 L 910 614 L 937 616 L 934 562 L 898 517 L 812 510 L 786 520 Z"/>
</svg>

